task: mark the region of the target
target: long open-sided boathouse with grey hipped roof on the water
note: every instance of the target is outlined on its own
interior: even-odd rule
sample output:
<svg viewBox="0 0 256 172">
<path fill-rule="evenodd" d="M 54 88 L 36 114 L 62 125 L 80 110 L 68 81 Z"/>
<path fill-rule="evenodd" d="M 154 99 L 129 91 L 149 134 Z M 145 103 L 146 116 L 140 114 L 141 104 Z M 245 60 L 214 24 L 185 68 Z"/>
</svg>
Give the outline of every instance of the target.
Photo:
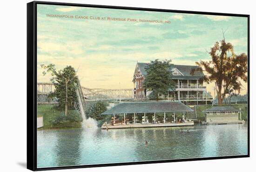
<svg viewBox="0 0 256 172">
<path fill-rule="evenodd" d="M 119 103 L 101 114 L 113 115 L 111 123 L 105 122 L 101 128 L 191 126 L 194 122 L 188 120 L 188 112 L 193 112 L 193 110 L 182 102 Z M 162 117 L 157 117 L 159 114 Z M 116 119 L 116 115 L 122 115 L 121 121 Z"/>
</svg>

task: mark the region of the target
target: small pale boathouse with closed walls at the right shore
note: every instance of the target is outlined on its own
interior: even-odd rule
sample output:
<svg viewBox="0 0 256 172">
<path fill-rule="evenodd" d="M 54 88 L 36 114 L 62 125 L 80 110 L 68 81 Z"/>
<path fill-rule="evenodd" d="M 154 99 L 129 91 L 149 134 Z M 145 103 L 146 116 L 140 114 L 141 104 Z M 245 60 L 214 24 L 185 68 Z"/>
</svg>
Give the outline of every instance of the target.
<svg viewBox="0 0 256 172">
<path fill-rule="evenodd" d="M 213 106 L 204 110 L 206 124 L 244 123 L 241 110 L 232 106 Z"/>
</svg>

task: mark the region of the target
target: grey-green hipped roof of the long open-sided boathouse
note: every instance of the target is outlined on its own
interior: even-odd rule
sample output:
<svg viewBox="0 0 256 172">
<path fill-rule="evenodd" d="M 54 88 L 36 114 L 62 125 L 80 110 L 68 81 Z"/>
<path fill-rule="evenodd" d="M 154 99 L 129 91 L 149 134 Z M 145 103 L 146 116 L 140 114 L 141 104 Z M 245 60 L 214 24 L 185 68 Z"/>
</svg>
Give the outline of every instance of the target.
<svg viewBox="0 0 256 172">
<path fill-rule="evenodd" d="M 103 112 L 102 115 L 192 111 L 182 102 L 128 102 L 116 104 L 113 108 Z"/>
</svg>

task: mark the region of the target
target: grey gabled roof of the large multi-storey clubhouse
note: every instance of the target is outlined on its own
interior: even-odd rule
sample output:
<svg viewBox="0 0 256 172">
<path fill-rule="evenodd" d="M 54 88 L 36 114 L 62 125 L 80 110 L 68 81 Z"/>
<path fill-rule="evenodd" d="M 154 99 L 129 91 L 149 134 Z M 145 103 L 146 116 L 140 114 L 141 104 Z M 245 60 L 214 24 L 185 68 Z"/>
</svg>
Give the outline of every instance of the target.
<svg viewBox="0 0 256 172">
<path fill-rule="evenodd" d="M 145 69 L 148 66 L 148 63 L 137 63 L 137 66 L 141 70 L 141 74 L 143 76 L 146 76 L 147 72 Z M 194 75 L 190 74 L 191 70 L 198 68 L 198 66 L 173 64 L 170 70 L 175 68 L 179 70 L 183 76 L 172 76 L 173 79 L 199 79 L 204 76 L 202 71 L 195 71 Z M 135 69 L 135 72 L 136 72 L 136 69 Z"/>
</svg>

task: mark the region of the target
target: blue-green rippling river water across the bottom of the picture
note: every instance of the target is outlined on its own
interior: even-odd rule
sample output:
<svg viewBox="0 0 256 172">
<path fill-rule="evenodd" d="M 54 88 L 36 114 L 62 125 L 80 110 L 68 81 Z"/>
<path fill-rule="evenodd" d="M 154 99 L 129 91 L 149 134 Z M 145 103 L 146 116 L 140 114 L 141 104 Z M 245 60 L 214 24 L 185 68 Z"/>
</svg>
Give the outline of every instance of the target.
<svg viewBox="0 0 256 172">
<path fill-rule="evenodd" d="M 38 168 L 246 155 L 247 151 L 246 123 L 37 131 Z"/>
</svg>

